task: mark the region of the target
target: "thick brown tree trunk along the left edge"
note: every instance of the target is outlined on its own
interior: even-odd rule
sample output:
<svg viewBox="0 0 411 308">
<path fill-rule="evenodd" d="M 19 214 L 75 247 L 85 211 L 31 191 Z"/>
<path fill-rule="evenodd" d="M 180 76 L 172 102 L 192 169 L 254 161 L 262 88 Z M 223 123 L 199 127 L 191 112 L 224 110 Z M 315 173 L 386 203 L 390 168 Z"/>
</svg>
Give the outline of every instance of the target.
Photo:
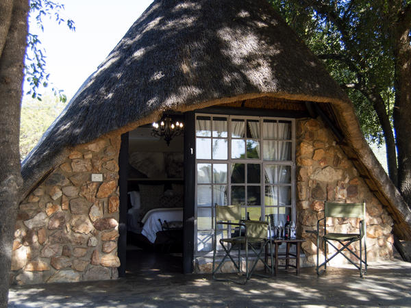
<svg viewBox="0 0 411 308">
<path fill-rule="evenodd" d="M 0 9 L 0 307 L 7 307 L 14 224 L 22 185 L 18 135 L 29 3 L 1 0 Z"/>
</svg>

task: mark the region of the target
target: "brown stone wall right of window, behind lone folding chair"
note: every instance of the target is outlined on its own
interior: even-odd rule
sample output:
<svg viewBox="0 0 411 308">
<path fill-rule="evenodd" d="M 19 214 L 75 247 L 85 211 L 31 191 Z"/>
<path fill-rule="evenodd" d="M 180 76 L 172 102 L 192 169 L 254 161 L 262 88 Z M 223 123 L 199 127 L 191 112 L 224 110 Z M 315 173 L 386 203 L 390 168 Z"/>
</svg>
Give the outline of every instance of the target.
<svg viewBox="0 0 411 308">
<path fill-rule="evenodd" d="M 393 219 L 359 177 L 356 168 L 336 144 L 321 120 L 297 121 L 297 216 L 299 236 L 306 238 L 302 248 L 308 264 L 316 262 L 316 238 L 305 230 L 316 229 L 324 217 L 324 201 L 366 202 L 366 245 L 368 261 L 393 257 Z M 358 220 L 327 220 L 327 231 L 358 232 Z M 359 250 L 359 243 L 353 251 Z M 329 248 L 327 248 L 329 249 Z M 332 253 L 330 249 L 329 253 Z M 323 258 L 323 247 L 320 257 Z M 332 264 L 347 261 L 342 255 Z"/>
</svg>

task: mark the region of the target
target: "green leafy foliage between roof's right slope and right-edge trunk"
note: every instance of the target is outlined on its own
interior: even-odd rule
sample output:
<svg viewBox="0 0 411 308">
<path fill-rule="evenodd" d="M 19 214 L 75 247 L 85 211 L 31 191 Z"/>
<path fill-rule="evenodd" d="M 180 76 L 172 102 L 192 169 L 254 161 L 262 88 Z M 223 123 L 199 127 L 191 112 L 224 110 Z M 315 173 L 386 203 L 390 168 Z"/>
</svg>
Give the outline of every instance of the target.
<svg viewBox="0 0 411 308">
<path fill-rule="evenodd" d="M 410 2 L 410 0 L 406 1 Z M 286 22 L 347 89 L 366 138 L 384 142 L 373 104 L 373 89 L 384 100 L 393 123 L 395 62 L 390 42 L 392 8 L 386 0 L 271 0 Z"/>
</svg>

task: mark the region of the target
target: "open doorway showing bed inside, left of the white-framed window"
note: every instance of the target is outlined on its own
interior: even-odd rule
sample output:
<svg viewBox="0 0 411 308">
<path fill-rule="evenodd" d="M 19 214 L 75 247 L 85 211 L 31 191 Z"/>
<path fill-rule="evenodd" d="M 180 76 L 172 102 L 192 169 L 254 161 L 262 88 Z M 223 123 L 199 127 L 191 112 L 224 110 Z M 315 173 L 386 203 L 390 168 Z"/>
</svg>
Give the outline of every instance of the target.
<svg viewBox="0 0 411 308">
<path fill-rule="evenodd" d="M 167 145 L 151 131 L 128 133 L 126 276 L 182 272 L 184 138 Z"/>
</svg>

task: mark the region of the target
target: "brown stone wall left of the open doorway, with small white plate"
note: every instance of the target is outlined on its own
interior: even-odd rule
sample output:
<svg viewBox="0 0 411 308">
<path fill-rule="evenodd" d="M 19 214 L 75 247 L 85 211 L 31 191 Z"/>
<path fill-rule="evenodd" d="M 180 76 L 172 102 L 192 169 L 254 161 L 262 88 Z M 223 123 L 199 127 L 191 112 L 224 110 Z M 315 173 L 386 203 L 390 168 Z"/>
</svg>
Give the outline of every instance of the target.
<svg viewBox="0 0 411 308">
<path fill-rule="evenodd" d="M 12 283 L 117 278 L 120 144 L 117 136 L 76 146 L 20 204 Z"/>
</svg>

